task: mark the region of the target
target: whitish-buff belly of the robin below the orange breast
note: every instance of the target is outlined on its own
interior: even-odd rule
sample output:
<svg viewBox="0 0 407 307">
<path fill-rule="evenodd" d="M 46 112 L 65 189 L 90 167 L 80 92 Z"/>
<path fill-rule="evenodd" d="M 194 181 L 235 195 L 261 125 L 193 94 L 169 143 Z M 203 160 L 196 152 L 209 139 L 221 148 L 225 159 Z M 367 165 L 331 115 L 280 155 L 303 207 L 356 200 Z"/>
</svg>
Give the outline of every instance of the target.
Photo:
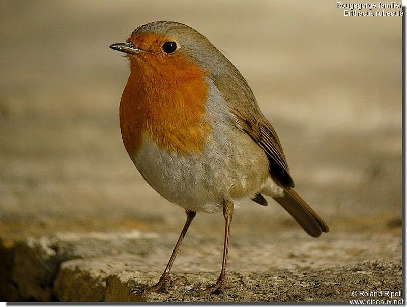
<svg viewBox="0 0 407 307">
<path fill-rule="evenodd" d="M 266 155 L 261 149 L 253 152 L 257 146 L 252 148 L 250 138 L 217 139 L 211 135 L 199 155 L 181 156 L 143 135 L 137 154 L 130 157 L 143 178 L 168 201 L 195 212 L 213 212 L 223 200 L 251 198 L 270 184 Z"/>
</svg>

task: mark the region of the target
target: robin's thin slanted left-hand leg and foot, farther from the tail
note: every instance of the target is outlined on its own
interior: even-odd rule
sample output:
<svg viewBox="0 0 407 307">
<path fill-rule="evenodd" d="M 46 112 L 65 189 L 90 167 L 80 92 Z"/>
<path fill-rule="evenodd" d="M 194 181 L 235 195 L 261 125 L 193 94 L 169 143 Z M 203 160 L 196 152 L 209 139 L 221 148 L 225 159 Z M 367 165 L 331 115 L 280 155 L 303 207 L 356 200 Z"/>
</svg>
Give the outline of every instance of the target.
<svg viewBox="0 0 407 307">
<path fill-rule="evenodd" d="M 185 212 L 187 213 L 187 221 L 185 222 L 185 225 L 181 231 L 180 237 L 178 238 L 177 244 L 175 245 L 174 250 L 172 251 L 168 264 L 165 267 L 165 270 L 162 273 L 158 283 L 153 286 L 144 288 L 141 291 L 138 291 L 137 289 L 133 289 L 130 291 L 130 293 L 136 293 L 137 295 L 146 295 L 151 292 L 166 292 L 169 286 L 172 286 L 173 284 L 175 284 L 177 282 L 177 280 L 179 278 L 177 278 L 177 280 L 172 281 L 171 277 L 169 276 L 169 272 L 171 271 L 172 264 L 174 263 L 174 260 L 177 257 L 178 250 L 180 249 L 182 240 L 184 239 L 185 234 L 187 233 L 189 225 L 191 225 L 191 222 L 196 215 L 196 212 L 194 212 L 194 211 L 185 210 Z"/>
</svg>

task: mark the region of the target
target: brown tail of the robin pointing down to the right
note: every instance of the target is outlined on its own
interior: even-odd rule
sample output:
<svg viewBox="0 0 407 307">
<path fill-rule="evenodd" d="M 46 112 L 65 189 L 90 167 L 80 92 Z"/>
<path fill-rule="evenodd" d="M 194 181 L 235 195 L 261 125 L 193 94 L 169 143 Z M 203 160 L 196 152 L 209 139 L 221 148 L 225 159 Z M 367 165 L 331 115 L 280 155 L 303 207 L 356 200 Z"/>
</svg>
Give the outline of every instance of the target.
<svg viewBox="0 0 407 307">
<path fill-rule="evenodd" d="M 302 228 L 311 236 L 319 237 L 322 232 L 328 232 L 325 221 L 297 194 L 294 189 L 286 189 L 281 198 L 274 198 Z"/>
</svg>

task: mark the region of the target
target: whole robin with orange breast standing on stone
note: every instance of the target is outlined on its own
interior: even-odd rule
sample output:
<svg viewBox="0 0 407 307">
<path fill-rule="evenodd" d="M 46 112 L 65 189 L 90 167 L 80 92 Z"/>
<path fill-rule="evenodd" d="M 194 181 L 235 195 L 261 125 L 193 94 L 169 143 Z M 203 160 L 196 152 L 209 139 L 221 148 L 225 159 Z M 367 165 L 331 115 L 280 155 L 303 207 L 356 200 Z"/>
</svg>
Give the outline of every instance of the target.
<svg viewBox="0 0 407 307">
<path fill-rule="evenodd" d="M 219 277 L 189 291 L 196 296 L 225 290 L 230 225 L 242 200 L 267 206 L 264 196 L 272 197 L 312 237 L 329 231 L 295 191 L 277 133 L 247 81 L 205 36 L 155 21 L 110 48 L 130 60 L 119 107 L 124 147 L 144 180 L 187 215 L 159 281 L 136 294 L 169 289 L 172 264 L 198 212 L 222 211 L 225 232 Z"/>
</svg>

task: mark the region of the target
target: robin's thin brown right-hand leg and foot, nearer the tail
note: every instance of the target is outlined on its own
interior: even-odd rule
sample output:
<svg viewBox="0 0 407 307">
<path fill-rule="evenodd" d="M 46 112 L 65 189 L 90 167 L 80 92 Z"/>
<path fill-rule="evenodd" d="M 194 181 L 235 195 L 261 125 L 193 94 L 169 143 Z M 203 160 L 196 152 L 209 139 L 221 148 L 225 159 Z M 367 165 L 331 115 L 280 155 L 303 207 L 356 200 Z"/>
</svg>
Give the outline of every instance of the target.
<svg viewBox="0 0 407 307">
<path fill-rule="evenodd" d="M 223 243 L 223 260 L 222 260 L 222 269 L 220 275 L 215 284 L 208 286 L 203 289 L 198 290 L 189 290 L 186 294 L 192 294 L 195 296 L 222 292 L 226 284 L 226 261 L 227 261 L 227 251 L 229 248 L 229 232 L 230 232 L 230 222 L 233 217 L 234 205 L 232 202 L 223 201 L 223 216 L 225 218 L 225 239 Z"/>
</svg>

